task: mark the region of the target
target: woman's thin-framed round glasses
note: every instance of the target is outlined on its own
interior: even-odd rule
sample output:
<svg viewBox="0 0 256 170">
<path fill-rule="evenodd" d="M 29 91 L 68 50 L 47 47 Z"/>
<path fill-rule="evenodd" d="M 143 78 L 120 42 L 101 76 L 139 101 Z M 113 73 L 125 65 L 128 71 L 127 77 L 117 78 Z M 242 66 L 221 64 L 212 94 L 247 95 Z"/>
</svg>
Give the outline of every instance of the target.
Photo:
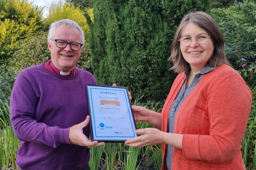
<svg viewBox="0 0 256 170">
<path fill-rule="evenodd" d="M 208 34 L 199 34 L 195 37 L 195 39 L 198 44 L 205 44 L 210 37 L 211 36 L 209 36 Z M 183 36 L 180 37 L 179 41 L 181 45 L 187 47 L 191 44 L 192 38 L 190 36 Z"/>
</svg>

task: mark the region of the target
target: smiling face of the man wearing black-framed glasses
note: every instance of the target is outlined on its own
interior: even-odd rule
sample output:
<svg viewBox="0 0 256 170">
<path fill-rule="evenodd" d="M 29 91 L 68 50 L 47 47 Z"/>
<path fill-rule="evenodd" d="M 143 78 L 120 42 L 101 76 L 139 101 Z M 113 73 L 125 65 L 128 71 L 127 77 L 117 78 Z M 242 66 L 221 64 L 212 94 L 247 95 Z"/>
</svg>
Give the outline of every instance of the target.
<svg viewBox="0 0 256 170">
<path fill-rule="evenodd" d="M 68 26 L 58 26 L 55 28 L 51 38 L 82 44 L 80 32 L 76 28 Z M 70 48 L 69 44 L 66 48 L 59 48 L 56 46 L 56 41 L 48 41 L 47 45 L 51 52 L 52 63 L 57 69 L 68 72 L 75 68 L 83 48 L 79 51 L 74 51 Z"/>
</svg>

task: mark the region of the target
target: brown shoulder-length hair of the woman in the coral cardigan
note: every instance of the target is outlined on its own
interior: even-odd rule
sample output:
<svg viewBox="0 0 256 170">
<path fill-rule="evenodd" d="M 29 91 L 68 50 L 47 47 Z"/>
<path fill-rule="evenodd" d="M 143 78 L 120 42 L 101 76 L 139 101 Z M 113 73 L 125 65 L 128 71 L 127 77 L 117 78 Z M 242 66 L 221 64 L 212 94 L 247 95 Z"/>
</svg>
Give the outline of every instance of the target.
<svg viewBox="0 0 256 170">
<path fill-rule="evenodd" d="M 173 62 L 173 66 L 170 70 L 181 73 L 190 69 L 188 62 L 185 61 L 181 54 L 179 41 L 181 30 L 188 23 L 196 24 L 197 26 L 203 28 L 211 36 L 214 44 L 214 50 L 211 58 L 206 64 L 209 64 L 214 68 L 218 67 L 222 63 L 230 65 L 226 58 L 224 39 L 217 22 L 209 14 L 197 11 L 186 14 L 180 22 L 180 25 L 172 41 L 172 54 L 169 60 Z"/>
</svg>

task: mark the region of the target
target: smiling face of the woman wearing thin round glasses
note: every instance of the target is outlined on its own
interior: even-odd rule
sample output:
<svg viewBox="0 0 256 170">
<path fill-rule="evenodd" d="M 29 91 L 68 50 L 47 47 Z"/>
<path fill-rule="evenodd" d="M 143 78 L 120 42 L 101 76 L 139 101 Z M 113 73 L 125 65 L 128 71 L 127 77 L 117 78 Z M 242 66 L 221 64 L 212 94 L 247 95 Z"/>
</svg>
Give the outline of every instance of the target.
<svg viewBox="0 0 256 170">
<path fill-rule="evenodd" d="M 205 64 L 211 58 L 214 50 L 214 44 L 211 37 L 205 44 L 198 44 L 196 42 L 196 36 L 199 34 L 207 34 L 207 32 L 199 26 L 189 22 L 181 30 L 181 37 L 192 37 L 191 44 L 187 47 L 180 44 L 180 51 L 189 63 L 192 71 L 200 72 L 204 69 Z"/>
</svg>

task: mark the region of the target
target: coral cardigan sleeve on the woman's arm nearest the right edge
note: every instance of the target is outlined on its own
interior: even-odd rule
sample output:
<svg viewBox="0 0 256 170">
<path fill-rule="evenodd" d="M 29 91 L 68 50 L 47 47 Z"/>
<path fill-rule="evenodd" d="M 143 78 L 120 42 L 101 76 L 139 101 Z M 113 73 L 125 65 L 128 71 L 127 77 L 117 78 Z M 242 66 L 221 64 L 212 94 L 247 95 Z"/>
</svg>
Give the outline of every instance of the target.
<svg viewBox="0 0 256 170">
<path fill-rule="evenodd" d="M 184 134 L 186 159 L 226 162 L 241 149 L 252 105 L 252 93 L 237 75 L 223 79 L 208 96 L 209 135 Z"/>
</svg>

